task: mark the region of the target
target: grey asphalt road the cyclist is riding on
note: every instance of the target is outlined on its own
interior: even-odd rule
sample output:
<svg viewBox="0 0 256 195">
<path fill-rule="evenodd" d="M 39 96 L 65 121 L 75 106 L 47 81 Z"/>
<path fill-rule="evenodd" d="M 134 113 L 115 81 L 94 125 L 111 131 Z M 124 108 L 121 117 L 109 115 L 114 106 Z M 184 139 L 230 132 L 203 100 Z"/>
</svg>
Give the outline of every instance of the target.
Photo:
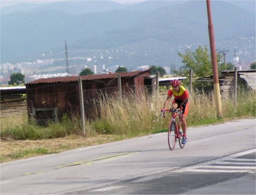
<svg viewBox="0 0 256 195">
<path fill-rule="evenodd" d="M 189 128 L 0 165 L 0 194 L 256 194 L 256 120 Z"/>
</svg>

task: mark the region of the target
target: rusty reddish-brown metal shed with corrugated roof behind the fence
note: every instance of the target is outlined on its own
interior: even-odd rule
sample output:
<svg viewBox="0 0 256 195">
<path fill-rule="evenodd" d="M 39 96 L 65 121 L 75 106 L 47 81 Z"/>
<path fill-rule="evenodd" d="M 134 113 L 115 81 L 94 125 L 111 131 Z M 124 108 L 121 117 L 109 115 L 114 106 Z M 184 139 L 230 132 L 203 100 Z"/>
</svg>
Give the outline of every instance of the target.
<svg viewBox="0 0 256 195">
<path fill-rule="evenodd" d="M 139 87 L 153 85 L 152 80 L 146 79 L 150 70 L 122 72 L 122 93 L 128 91 L 137 93 Z M 26 83 L 28 114 L 45 121 L 59 120 L 65 113 L 80 115 L 80 95 L 78 80 L 82 80 L 85 117 L 90 118 L 93 113 L 92 102 L 100 98 L 100 93 L 118 93 L 118 73 L 99 74 L 89 76 L 69 76 L 59 78 L 42 78 Z"/>
</svg>

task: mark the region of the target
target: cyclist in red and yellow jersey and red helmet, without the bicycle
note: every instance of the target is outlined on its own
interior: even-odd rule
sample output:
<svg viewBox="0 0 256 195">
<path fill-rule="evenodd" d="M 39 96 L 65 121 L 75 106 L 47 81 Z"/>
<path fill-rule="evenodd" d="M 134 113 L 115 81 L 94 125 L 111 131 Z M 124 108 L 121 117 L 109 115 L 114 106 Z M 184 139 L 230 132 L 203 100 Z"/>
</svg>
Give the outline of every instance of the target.
<svg viewBox="0 0 256 195">
<path fill-rule="evenodd" d="M 171 108 L 178 109 L 182 108 L 181 125 L 183 131 L 182 144 L 187 143 L 187 121 L 186 117 L 189 113 L 189 91 L 185 87 L 180 86 L 180 80 L 174 79 L 171 81 L 171 88 L 168 91 L 167 98 L 165 100 L 162 112 L 166 109 L 169 102 L 171 101 L 171 96 L 174 95 L 174 100 L 172 101 Z"/>
</svg>

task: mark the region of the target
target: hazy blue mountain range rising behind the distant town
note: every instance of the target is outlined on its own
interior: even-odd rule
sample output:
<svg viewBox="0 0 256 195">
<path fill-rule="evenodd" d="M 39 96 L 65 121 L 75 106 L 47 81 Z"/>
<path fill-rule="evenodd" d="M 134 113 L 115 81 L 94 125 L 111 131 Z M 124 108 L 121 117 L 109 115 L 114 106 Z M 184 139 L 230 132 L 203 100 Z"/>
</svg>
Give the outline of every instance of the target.
<svg viewBox="0 0 256 195">
<path fill-rule="evenodd" d="M 255 60 L 255 1 L 211 1 L 216 48 Z M 181 65 L 178 52 L 209 45 L 205 0 L 20 3 L 0 10 L 1 64 L 90 57 L 98 63 Z M 76 61 L 77 62 L 77 61 Z"/>
</svg>

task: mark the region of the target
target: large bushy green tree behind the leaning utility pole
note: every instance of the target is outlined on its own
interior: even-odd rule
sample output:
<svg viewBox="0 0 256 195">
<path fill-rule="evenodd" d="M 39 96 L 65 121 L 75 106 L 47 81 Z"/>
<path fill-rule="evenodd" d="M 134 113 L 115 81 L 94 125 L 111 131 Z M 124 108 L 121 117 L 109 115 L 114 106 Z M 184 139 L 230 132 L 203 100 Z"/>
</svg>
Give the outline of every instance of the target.
<svg viewBox="0 0 256 195">
<path fill-rule="evenodd" d="M 193 52 L 190 49 L 185 50 L 185 54 L 178 53 L 183 58 L 180 70 L 174 70 L 178 76 L 189 77 L 189 69 L 192 69 L 193 77 L 205 77 L 213 74 L 212 63 L 210 54 L 208 54 L 207 45 L 202 48 L 201 45 Z M 220 55 L 217 54 L 219 61 Z"/>
</svg>

